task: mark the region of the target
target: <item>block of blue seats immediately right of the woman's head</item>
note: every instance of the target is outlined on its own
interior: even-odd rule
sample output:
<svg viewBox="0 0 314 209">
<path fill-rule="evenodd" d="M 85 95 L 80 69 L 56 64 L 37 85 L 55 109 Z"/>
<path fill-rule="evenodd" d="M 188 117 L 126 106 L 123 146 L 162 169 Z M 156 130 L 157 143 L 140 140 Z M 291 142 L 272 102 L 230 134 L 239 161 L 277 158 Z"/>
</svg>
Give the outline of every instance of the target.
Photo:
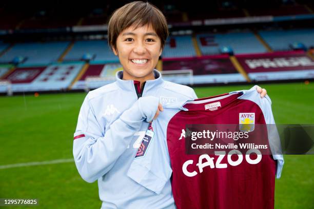
<svg viewBox="0 0 314 209">
<path fill-rule="evenodd" d="M 192 57 L 196 56 L 192 36 L 169 36 L 166 40 L 163 57 Z"/>
</svg>

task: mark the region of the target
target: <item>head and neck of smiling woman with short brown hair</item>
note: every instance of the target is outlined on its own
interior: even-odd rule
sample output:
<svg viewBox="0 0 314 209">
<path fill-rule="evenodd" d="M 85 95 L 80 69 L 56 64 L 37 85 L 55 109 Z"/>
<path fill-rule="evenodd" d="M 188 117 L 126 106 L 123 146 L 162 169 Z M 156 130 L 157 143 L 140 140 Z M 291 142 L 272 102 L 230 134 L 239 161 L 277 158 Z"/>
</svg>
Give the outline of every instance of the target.
<svg viewBox="0 0 314 209">
<path fill-rule="evenodd" d="M 123 79 L 155 79 L 153 69 L 168 36 L 165 16 L 155 6 L 132 2 L 117 9 L 108 24 L 108 43 L 123 66 Z"/>
</svg>

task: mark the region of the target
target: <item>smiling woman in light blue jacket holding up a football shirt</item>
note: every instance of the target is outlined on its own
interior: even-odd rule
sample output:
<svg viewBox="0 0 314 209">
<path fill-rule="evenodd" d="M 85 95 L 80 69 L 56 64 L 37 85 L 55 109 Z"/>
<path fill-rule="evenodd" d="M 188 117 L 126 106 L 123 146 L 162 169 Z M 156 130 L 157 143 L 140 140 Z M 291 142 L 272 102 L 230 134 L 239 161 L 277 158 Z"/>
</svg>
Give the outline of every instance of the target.
<svg viewBox="0 0 314 209">
<path fill-rule="evenodd" d="M 127 176 L 149 122 L 163 110 L 160 98 L 197 98 L 190 87 L 164 81 L 154 70 L 167 36 L 164 15 L 149 3 L 129 3 L 110 18 L 108 42 L 123 71 L 114 83 L 88 93 L 73 142 L 77 170 L 87 182 L 98 180 L 102 208 L 175 208 L 170 179 L 156 195 Z"/>
</svg>

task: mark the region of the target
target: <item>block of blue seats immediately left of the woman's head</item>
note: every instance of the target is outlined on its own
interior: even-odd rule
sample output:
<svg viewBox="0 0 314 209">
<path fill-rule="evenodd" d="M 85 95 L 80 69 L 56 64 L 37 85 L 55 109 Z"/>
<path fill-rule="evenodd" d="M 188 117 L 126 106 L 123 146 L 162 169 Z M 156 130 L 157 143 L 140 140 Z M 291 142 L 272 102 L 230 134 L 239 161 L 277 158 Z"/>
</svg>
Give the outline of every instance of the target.
<svg viewBox="0 0 314 209">
<path fill-rule="evenodd" d="M 119 61 L 108 46 L 107 40 L 75 41 L 72 49 L 64 57 L 64 61 L 81 60 L 84 54 L 90 54 L 93 61 Z"/>
</svg>

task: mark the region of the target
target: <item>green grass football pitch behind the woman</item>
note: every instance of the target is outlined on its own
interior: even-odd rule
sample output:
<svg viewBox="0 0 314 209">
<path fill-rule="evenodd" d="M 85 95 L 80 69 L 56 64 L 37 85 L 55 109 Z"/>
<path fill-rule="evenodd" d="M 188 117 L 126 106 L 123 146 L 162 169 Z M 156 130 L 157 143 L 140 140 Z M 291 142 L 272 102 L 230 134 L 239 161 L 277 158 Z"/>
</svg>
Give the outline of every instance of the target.
<svg viewBox="0 0 314 209">
<path fill-rule="evenodd" d="M 261 86 L 272 100 L 277 123 L 314 123 L 314 84 Z M 250 87 L 202 87 L 195 92 L 201 98 Z M 73 133 L 85 95 L 0 97 L 0 198 L 38 199 L 39 205 L 31 208 L 100 208 L 97 183 L 85 182 L 71 161 Z M 276 208 L 314 208 L 314 156 L 284 158 L 282 177 L 276 180 Z M 64 160 L 53 161 L 60 159 Z M 55 163 L 32 165 L 43 161 Z"/>
</svg>

